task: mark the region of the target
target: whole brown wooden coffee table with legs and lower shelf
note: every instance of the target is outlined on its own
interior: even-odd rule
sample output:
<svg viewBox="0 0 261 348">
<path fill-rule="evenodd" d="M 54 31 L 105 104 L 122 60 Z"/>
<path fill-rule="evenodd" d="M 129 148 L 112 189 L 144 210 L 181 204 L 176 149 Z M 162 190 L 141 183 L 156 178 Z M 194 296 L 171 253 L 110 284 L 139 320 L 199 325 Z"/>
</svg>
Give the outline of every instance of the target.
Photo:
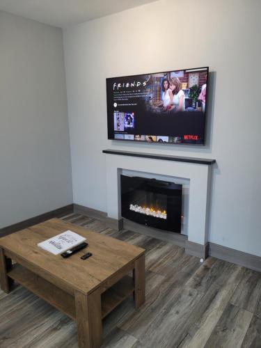
<svg viewBox="0 0 261 348">
<path fill-rule="evenodd" d="M 65 230 L 86 237 L 88 248 L 64 259 L 37 246 Z M 100 347 L 102 318 L 132 294 L 136 308 L 145 301 L 145 250 L 52 219 L 0 238 L 1 289 L 10 292 L 13 280 L 76 320 L 79 347 Z"/>
</svg>

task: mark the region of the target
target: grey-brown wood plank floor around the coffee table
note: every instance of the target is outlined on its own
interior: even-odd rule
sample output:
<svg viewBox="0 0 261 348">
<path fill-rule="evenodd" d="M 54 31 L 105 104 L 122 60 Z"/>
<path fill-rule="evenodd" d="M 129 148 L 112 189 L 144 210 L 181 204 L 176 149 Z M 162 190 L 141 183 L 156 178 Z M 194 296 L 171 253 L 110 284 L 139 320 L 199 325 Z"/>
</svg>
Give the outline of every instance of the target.
<svg viewBox="0 0 261 348">
<path fill-rule="evenodd" d="M 103 348 L 261 347 L 261 274 L 184 253 L 129 230 L 116 232 L 81 214 L 79 226 L 145 248 L 146 301 L 127 299 L 103 321 Z M 74 322 L 20 285 L 0 290 L 1 348 L 76 348 Z"/>
</svg>

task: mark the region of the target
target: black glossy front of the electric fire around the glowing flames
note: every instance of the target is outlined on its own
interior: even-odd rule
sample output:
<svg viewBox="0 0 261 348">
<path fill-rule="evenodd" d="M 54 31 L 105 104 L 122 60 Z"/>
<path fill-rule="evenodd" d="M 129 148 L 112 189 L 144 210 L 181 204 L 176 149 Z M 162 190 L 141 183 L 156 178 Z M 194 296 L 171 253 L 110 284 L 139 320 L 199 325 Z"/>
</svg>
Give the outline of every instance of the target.
<svg viewBox="0 0 261 348">
<path fill-rule="evenodd" d="M 129 204 L 132 201 L 130 197 L 135 190 L 166 195 L 167 219 L 159 219 L 155 216 L 145 215 L 130 210 Z M 181 233 L 182 184 L 149 179 L 147 177 L 120 175 L 120 193 L 121 216 L 123 218 L 152 228 Z"/>
</svg>

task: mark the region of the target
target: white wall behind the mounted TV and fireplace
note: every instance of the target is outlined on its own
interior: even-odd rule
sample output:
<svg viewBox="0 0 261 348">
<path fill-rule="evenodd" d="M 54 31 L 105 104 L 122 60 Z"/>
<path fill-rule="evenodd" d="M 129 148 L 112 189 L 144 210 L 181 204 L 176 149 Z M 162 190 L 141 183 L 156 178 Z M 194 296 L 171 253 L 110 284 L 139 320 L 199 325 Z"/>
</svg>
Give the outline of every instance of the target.
<svg viewBox="0 0 261 348">
<path fill-rule="evenodd" d="M 209 239 L 261 255 L 260 10 L 255 0 L 161 0 L 65 29 L 74 203 L 106 210 L 104 148 L 214 158 Z M 106 77 L 206 65 L 204 148 L 106 140 Z"/>
</svg>

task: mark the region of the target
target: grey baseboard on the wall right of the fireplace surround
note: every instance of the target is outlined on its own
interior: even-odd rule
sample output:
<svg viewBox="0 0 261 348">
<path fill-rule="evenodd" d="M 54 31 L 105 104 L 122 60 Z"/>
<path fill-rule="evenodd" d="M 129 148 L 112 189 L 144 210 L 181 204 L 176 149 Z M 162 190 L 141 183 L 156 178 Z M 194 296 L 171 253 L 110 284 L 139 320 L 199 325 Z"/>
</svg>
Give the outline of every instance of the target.
<svg viewBox="0 0 261 348">
<path fill-rule="evenodd" d="M 209 256 L 261 272 L 261 257 L 209 242 Z"/>
</svg>

